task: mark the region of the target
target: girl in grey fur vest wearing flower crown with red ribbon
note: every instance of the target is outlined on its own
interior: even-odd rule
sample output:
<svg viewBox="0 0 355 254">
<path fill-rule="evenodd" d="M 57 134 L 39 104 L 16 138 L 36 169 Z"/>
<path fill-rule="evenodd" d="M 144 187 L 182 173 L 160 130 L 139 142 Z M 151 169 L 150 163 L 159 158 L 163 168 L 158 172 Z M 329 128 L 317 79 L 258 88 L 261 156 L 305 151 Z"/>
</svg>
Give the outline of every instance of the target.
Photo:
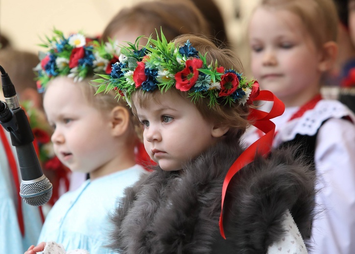
<svg viewBox="0 0 355 254">
<path fill-rule="evenodd" d="M 311 171 L 290 149 L 269 153 L 269 118 L 283 104 L 241 75 L 231 51 L 202 37 L 167 42 L 162 33 L 121 53 L 111 75 L 96 80 L 98 90 L 115 89 L 132 106 L 158 165 L 125 190 L 110 247 L 120 254 L 307 253 Z M 275 107 L 262 113 L 254 100 Z M 266 138 L 244 150 L 240 137 L 250 123 Z"/>
</svg>

